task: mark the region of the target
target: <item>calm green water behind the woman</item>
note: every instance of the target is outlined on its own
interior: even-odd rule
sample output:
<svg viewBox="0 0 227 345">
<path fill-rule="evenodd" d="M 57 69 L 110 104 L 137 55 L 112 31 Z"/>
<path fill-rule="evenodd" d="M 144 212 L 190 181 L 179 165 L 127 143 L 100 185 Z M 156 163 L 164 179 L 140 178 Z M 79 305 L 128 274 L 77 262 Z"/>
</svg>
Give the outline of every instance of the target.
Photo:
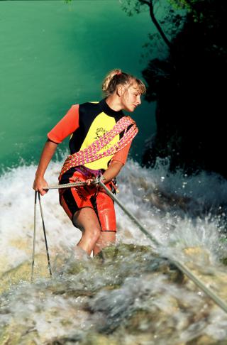
<svg viewBox="0 0 227 345">
<path fill-rule="evenodd" d="M 0 1 L 0 31 L 0 164 L 10 167 L 37 162 L 71 104 L 101 99 L 106 72 L 141 77 L 143 44 L 155 28 L 148 12 L 128 17 L 118 0 Z M 133 114 L 135 158 L 155 131 L 154 109 L 143 102 Z"/>
</svg>

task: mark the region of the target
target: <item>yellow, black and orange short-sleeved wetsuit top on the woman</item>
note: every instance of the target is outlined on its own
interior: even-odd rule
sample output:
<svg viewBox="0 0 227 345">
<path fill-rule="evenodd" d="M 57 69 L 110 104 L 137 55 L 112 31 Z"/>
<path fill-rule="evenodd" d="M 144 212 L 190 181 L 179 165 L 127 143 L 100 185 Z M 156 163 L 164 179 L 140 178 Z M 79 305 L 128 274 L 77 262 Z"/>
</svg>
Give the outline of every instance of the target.
<svg viewBox="0 0 227 345">
<path fill-rule="evenodd" d="M 123 116 L 125 116 L 123 111 L 114 111 L 106 103 L 105 99 L 102 99 L 100 102 L 74 104 L 63 119 L 48 133 L 48 138 L 55 143 L 61 143 L 71 134 L 70 153 L 72 155 L 72 153 L 87 148 L 96 141 L 97 138 L 111 130 L 116 122 Z M 101 153 L 114 145 L 114 143 L 117 143 L 122 136 L 123 133 L 115 136 L 114 139 L 99 152 Z M 115 155 L 100 158 L 92 163 L 85 164 L 85 166 L 93 170 L 106 170 L 111 158 L 124 164 L 126 163 L 130 146 L 131 143 L 118 151 L 118 153 L 115 153 Z"/>
</svg>

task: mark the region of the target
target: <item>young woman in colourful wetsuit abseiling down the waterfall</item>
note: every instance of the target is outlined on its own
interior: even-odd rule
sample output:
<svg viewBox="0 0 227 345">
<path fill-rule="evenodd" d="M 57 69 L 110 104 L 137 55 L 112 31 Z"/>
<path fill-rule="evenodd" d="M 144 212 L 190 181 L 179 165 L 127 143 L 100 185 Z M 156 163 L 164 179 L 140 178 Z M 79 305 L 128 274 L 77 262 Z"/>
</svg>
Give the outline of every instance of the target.
<svg viewBox="0 0 227 345">
<path fill-rule="evenodd" d="M 60 173 L 60 184 L 84 181 L 83 187 L 60 190 L 60 204 L 82 231 L 77 246 L 95 256 L 116 240 L 114 202 L 103 189 L 94 185 L 101 176 L 109 190 L 116 190 L 115 177 L 126 163 L 128 150 L 138 129 L 122 110 L 134 111 L 141 104 L 145 85 L 133 75 L 112 70 L 102 89 L 106 95 L 100 102 L 73 105 L 65 117 L 48 133 L 33 189 L 45 194 L 48 187 L 45 170 L 58 143 L 70 137 L 70 153 Z"/>
</svg>

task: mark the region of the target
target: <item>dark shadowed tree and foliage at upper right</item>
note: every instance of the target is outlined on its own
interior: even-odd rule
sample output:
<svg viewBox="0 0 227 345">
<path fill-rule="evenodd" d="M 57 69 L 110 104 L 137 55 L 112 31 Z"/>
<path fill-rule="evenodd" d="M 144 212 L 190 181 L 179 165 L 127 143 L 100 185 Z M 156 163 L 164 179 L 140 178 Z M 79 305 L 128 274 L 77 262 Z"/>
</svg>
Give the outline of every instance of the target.
<svg viewBox="0 0 227 345">
<path fill-rule="evenodd" d="M 157 2 L 160 4 L 157 0 L 126 2 L 133 4 L 134 9 L 139 5 L 138 10 L 147 6 L 150 13 Z M 157 102 L 157 133 L 145 153 L 144 163 L 149 164 L 150 160 L 154 164 L 157 156 L 168 156 L 172 170 L 206 169 L 227 177 L 223 164 L 226 104 L 222 86 L 226 83 L 227 46 L 223 33 L 226 33 L 227 2 L 170 0 L 170 6 L 172 11 L 173 7 L 184 11 L 178 18 L 182 27 L 176 35 L 168 35 L 167 57 L 150 60 L 143 70 L 148 84 L 146 98 Z M 153 21 L 153 16 L 150 17 Z M 174 28 L 174 18 L 169 11 L 160 26 L 164 27 L 169 20 Z"/>
</svg>

